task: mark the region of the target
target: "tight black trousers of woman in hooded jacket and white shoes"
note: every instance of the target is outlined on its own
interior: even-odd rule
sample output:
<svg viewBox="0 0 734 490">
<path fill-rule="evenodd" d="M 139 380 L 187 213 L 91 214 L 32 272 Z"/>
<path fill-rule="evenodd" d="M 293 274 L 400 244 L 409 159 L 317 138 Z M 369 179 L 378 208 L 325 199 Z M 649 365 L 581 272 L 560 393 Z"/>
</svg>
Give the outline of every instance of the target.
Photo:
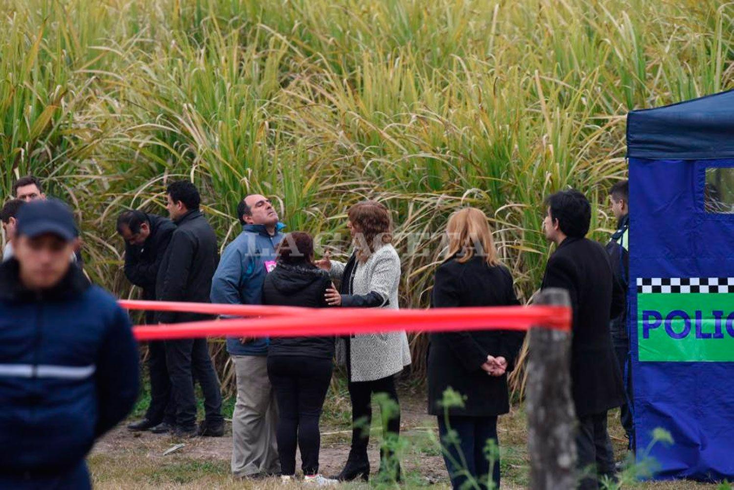
<svg viewBox="0 0 734 490">
<path fill-rule="evenodd" d="M 296 473 L 296 444 L 304 475 L 319 472 L 319 418 L 331 381 L 331 359 L 268 356 L 268 377 L 280 410 L 277 448 L 283 475 Z"/>
</svg>

